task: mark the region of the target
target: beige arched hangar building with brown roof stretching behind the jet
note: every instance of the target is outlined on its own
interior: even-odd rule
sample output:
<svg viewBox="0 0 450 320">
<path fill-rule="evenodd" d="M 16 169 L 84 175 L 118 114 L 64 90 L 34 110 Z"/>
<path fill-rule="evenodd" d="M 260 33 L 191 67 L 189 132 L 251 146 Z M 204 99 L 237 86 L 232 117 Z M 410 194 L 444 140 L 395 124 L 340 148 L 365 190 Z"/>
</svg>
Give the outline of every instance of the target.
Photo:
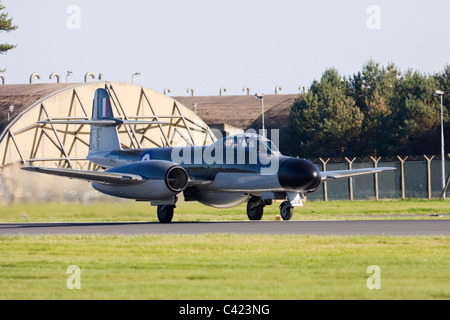
<svg viewBox="0 0 450 320">
<path fill-rule="evenodd" d="M 99 169 L 85 159 L 89 126 L 38 123 L 55 118 L 90 118 L 98 88 L 109 92 L 115 117 L 167 122 L 120 126 L 119 138 L 125 149 L 208 145 L 216 135 L 261 129 L 261 100 L 252 95 L 171 98 L 142 86 L 106 81 L 0 85 L 0 203 L 89 202 L 106 197 L 85 182 L 20 170 L 22 164 Z M 286 129 L 289 108 L 296 97 L 265 96 L 267 129 Z"/>
</svg>

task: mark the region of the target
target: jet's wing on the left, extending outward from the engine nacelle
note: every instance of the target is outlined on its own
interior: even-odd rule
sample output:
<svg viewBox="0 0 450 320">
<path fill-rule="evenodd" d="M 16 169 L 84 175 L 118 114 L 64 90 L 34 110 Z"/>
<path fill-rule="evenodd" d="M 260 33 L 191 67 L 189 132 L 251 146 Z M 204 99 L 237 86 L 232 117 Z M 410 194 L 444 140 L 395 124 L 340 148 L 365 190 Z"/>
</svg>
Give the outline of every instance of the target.
<svg viewBox="0 0 450 320">
<path fill-rule="evenodd" d="M 141 176 L 129 173 L 97 172 L 97 171 L 53 169 L 40 167 L 23 167 L 22 170 L 106 184 L 132 185 L 144 182 L 144 179 Z"/>
</svg>

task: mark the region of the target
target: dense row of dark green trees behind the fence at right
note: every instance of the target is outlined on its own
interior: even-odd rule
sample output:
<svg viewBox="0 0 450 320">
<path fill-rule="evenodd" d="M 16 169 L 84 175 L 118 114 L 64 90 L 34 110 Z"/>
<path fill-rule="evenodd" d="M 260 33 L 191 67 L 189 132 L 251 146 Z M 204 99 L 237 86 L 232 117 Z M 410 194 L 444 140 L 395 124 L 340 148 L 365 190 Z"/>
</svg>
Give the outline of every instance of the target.
<svg viewBox="0 0 450 320">
<path fill-rule="evenodd" d="M 441 100 L 450 152 L 450 65 L 442 72 L 401 72 L 366 62 L 348 78 L 334 68 L 299 95 L 289 115 L 285 153 L 304 158 L 440 154 Z"/>
</svg>

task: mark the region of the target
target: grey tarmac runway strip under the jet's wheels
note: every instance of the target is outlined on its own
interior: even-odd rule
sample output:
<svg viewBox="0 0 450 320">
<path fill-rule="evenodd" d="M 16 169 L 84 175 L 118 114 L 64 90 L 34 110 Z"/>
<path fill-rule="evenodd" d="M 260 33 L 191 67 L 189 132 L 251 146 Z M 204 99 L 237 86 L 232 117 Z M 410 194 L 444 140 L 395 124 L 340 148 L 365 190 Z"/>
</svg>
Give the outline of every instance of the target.
<svg viewBox="0 0 450 320">
<path fill-rule="evenodd" d="M 238 222 L 89 222 L 0 224 L 0 236 L 46 234 L 279 234 L 450 236 L 450 220 L 342 220 Z"/>
</svg>

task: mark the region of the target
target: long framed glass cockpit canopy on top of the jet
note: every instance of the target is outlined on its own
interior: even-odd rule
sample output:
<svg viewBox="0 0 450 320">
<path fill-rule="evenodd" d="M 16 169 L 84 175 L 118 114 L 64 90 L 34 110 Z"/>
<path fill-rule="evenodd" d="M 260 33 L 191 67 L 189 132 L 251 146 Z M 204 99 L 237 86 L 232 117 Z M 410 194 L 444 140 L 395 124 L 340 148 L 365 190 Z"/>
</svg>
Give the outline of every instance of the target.
<svg viewBox="0 0 450 320">
<path fill-rule="evenodd" d="M 241 133 L 228 136 L 216 141 L 212 146 L 223 146 L 225 149 L 244 149 L 248 152 L 263 153 L 271 156 L 281 155 L 280 151 L 272 141 L 256 133 Z"/>
</svg>

